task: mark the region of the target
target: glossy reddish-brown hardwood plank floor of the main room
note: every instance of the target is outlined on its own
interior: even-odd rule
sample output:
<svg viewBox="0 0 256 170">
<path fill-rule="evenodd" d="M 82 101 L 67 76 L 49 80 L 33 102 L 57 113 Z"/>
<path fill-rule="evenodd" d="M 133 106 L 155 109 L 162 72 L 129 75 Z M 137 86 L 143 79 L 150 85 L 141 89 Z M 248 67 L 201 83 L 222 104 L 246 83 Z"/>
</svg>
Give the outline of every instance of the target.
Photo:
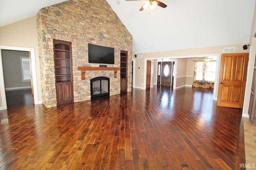
<svg viewBox="0 0 256 170">
<path fill-rule="evenodd" d="M 208 89 L 133 89 L 47 109 L 0 111 L 0 169 L 240 169 L 242 109 Z"/>
</svg>

